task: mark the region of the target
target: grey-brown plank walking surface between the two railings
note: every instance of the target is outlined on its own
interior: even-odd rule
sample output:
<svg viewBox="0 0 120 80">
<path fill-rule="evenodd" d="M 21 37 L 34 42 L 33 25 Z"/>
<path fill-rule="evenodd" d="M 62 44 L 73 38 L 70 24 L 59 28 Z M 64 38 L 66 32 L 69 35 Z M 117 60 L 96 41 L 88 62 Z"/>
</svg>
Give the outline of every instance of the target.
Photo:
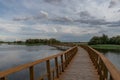
<svg viewBox="0 0 120 80">
<path fill-rule="evenodd" d="M 99 80 L 88 53 L 81 47 L 58 80 Z"/>
</svg>

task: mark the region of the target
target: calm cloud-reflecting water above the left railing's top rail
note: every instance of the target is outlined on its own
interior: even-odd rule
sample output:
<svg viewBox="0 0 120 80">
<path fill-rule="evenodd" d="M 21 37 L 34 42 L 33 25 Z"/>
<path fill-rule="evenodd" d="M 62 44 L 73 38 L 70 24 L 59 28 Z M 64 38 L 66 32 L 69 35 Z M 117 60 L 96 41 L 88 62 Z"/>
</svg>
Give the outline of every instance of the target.
<svg viewBox="0 0 120 80">
<path fill-rule="evenodd" d="M 32 62 L 61 51 L 50 46 L 0 45 L 0 71 Z"/>
</svg>

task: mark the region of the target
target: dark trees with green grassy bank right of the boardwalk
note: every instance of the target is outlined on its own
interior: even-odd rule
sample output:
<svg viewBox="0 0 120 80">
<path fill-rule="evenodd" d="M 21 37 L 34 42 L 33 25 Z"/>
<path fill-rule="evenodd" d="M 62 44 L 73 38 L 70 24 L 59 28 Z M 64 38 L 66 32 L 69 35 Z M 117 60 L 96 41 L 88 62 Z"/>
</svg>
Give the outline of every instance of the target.
<svg viewBox="0 0 120 80">
<path fill-rule="evenodd" d="M 107 35 L 94 36 L 88 44 L 96 49 L 119 49 L 120 50 L 120 36 L 108 38 Z"/>
</svg>

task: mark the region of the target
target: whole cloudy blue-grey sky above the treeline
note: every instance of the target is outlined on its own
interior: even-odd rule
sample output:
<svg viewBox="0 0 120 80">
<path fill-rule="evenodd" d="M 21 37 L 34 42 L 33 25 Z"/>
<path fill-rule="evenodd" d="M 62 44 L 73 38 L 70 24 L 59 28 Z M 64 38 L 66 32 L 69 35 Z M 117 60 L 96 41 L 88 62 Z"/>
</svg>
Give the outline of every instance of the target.
<svg viewBox="0 0 120 80">
<path fill-rule="evenodd" d="M 120 0 L 0 0 L 0 40 L 120 35 Z"/>
</svg>

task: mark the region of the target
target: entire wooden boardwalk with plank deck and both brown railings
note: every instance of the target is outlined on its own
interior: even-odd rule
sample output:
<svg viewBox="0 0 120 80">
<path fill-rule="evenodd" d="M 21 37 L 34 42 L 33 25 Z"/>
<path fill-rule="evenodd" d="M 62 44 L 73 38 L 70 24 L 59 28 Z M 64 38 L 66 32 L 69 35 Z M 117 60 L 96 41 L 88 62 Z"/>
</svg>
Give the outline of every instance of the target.
<svg viewBox="0 0 120 80">
<path fill-rule="evenodd" d="M 51 60 L 54 67 L 51 67 Z M 75 46 L 65 52 L 0 72 L 0 80 L 29 69 L 29 79 L 35 80 L 35 65 L 46 63 L 47 73 L 37 80 L 120 80 L 120 73 L 101 53 L 89 46 Z M 24 80 L 24 79 L 22 79 Z"/>
</svg>

